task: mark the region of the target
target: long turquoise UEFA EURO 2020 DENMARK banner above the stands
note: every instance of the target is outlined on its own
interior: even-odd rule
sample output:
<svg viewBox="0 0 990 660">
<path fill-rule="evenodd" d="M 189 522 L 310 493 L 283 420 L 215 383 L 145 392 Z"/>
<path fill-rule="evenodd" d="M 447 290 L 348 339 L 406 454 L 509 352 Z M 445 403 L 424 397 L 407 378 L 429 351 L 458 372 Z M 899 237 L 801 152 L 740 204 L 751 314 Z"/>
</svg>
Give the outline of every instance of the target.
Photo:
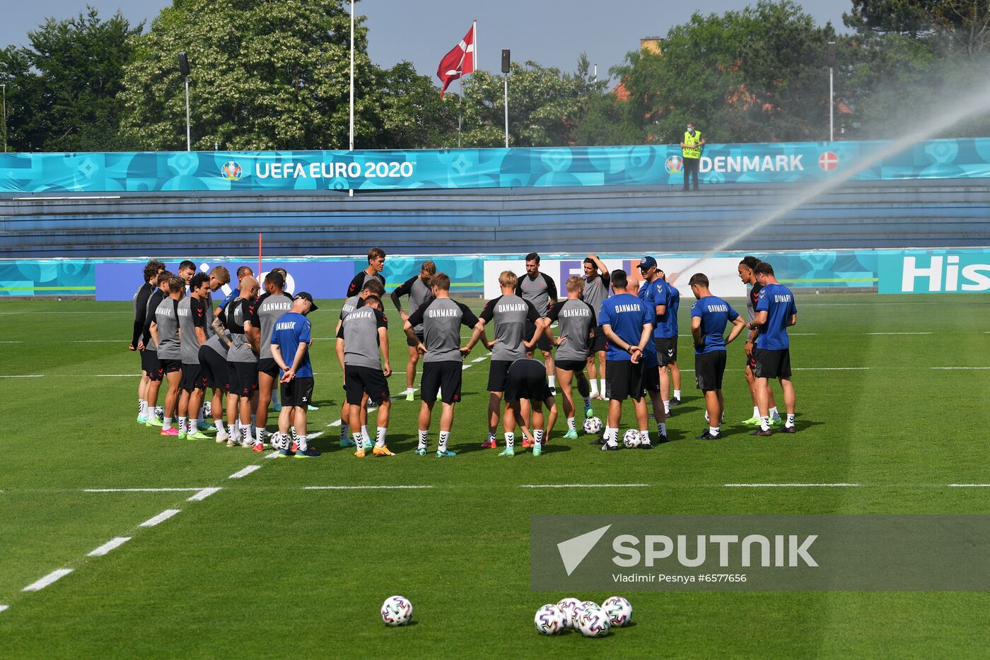
<svg viewBox="0 0 990 660">
<path fill-rule="evenodd" d="M 701 179 L 815 182 L 882 141 L 708 144 Z M 990 176 L 990 139 L 916 144 L 854 179 Z M 409 151 L 156 151 L 0 153 L 0 194 L 277 192 L 545 186 L 681 185 L 680 148 L 654 144 Z"/>
</svg>

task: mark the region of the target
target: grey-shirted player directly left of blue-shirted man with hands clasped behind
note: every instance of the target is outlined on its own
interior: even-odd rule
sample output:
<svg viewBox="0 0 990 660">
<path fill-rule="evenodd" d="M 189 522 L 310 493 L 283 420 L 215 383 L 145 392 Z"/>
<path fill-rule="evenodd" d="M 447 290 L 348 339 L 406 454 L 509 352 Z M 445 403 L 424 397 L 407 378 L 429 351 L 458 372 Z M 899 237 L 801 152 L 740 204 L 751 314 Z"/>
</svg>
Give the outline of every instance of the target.
<svg viewBox="0 0 990 660">
<path fill-rule="evenodd" d="M 577 390 L 584 399 L 584 417 L 594 416 L 591 409 L 588 379 L 584 375 L 584 368 L 587 365 L 588 349 L 591 346 L 594 329 L 598 326 L 595 310 L 584 300 L 581 300 L 581 293 L 584 291 L 584 280 L 577 275 L 567 278 L 567 300 L 557 303 L 546 319 L 541 323 L 545 325 L 550 341 L 557 347 L 556 355 L 553 358 L 556 367 L 557 378 L 560 379 L 560 391 L 563 394 L 563 414 L 567 418 L 567 432 L 564 437 L 575 439 L 577 437 L 577 427 L 574 425 L 574 397 L 572 382 L 577 379 Z M 553 330 L 549 325 L 556 322 L 558 339 L 553 337 Z"/>
</svg>

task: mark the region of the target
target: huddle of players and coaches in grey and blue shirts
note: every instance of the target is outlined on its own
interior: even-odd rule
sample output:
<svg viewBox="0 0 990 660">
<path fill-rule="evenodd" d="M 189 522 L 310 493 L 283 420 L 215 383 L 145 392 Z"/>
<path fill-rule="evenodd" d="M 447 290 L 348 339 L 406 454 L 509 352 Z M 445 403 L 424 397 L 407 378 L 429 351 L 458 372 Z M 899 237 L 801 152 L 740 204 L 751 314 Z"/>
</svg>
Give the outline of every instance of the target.
<svg viewBox="0 0 990 660">
<path fill-rule="evenodd" d="M 367 268 L 347 286 L 336 329 L 345 391 L 341 446 L 354 447 L 357 457 L 369 451 L 390 456 L 393 452 L 386 439 L 392 368 L 382 274 L 386 255 L 376 247 L 367 258 Z M 505 446 L 499 455 L 515 455 L 519 426 L 523 447 L 532 447 L 539 456 L 558 416 L 557 387 L 567 424 L 563 438 L 577 438 L 575 385 L 585 419 L 594 416 L 592 399 L 608 401 L 604 430 L 592 444 L 606 451 L 623 446 L 619 426 L 627 399 L 633 402 L 639 431 L 637 441 L 629 446 L 650 449 L 667 441 L 666 419 L 671 406 L 681 403 L 677 367 L 680 293 L 651 256 L 640 260 L 632 277 L 621 269 L 608 272 L 595 254 L 589 254 L 583 266 L 584 276 L 567 278 L 565 298 L 558 300 L 555 282 L 540 271 L 540 255 L 530 253 L 526 274 L 503 271 L 499 275 L 501 294 L 488 301 L 478 316 L 450 298 L 450 278 L 438 273 L 433 261 L 424 261 L 416 277 L 392 292 L 409 348 L 404 392 L 408 401 L 415 398 L 416 368 L 423 361 L 416 454 L 427 453 L 440 399 L 436 456 L 455 455 L 448 444 L 454 410 L 460 403 L 463 361 L 479 342 L 491 351 L 488 435 L 483 447 L 498 446 L 501 423 Z M 776 281 L 772 266 L 755 257 L 743 259 L 739 274 L 752 286 L 748 323 L 712 294 L 704 274 L 692 275 L 689 282 L 697 299 L 691 308 L 695 378 L 704 395 L 708 422 L 697 436 L 700 439 L 722 436 L 726 346 L 743 330 L 745 378 L 753 404 L 752 418 L 743 424 L 758 425 L 753 434 L 760 436 L 770 435 L 773 426 L 785 432 L 795 430 L 786 330 L 797 321 L 794 296 Z M 162 262 L 148 261 L 145 284 L 135 296 L 131 345 L 142 352 L 138 421 L 160 425 L 162 435 L 205 439 L 209 437 L 206 432 L 215 430 L 217 441 L 228 446 L 260 451 L 270 443 L 279 456 L 318 456 L 306 436 L 306 412 L 312 409 L 314 387 L 309 356 L 312 330 L 306 316 L 317 307 L 307 293 L 292 297 L 284 293 L 286 273 L 281 269 L 267 273 L 260 296 L 250 268 L 241 267 L 237 276 L 237 288 L 214 309 L 212 294 L 230 282 L 226 268 L 197 273 L 194 263 L 183 261 L 173 275 L 164 270 Z M 409 299 L 408 311 L 402 307 L 403 297 Z M 461 341 L 461 327 L 471 332 L 466 343 Z M 535 357 L 538 350 L 542 359 Z M 781 383 L 786 419 L 780 418 L 774 403 L 769 384 L 774 379 Z M 158 421 L 154 408 L 162 382 L 167 391 L 163 418 Z M 213 396 L 206 408 L 201 404 L 208 389 Z M 647 396 L 655 422 L 653 436 Z M 280 415 L 278 431 L 269 437 L 265 425 L 273 401 Z M 378 410 L 373 436 L 367 427 L 371 406 Z M 206 410 L 213 424 L 204 419 Z"/>
</svg>

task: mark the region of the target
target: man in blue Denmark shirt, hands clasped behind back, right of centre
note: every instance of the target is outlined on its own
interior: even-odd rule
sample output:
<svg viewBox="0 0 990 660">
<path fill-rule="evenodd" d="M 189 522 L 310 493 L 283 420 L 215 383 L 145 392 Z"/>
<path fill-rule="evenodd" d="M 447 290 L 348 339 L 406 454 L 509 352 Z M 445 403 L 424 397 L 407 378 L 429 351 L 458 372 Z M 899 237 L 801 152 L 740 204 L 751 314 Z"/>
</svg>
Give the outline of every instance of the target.
<svg viewBox="0 0 990 660">
<path fill-rule="evenodd" d="M 649 429 L 646 423 L 644 389 L 644 350 L 652 341 L 653 311 L 635 293 L 635 285 L 629 283 L 625 270 L 612 271 L 611 298 L 606 298 L 598 313 L 598 325 L 605 332 L 608 347 L 605 351 L 605 396 L 609 400 L 609 415 L 602 441 L 603 451 L 619 448 L 619 423 L 622 421 L 622 402 L 633 400 L 633 410 L 643 438 L 641 446 L 651 449 Z"/>
</svg>

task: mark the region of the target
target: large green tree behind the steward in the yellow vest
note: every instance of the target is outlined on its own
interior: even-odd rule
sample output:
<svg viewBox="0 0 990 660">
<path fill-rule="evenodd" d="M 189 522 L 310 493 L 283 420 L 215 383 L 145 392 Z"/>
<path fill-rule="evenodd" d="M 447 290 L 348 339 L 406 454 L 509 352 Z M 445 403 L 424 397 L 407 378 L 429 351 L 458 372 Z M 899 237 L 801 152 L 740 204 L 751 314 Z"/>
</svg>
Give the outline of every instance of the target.
<svg viewBox="0 0 990 660">
<path fill-rule="evenodd" d="M 631 52 L 613 74 L 641 141 L 679 142 L 687 121 L 709 141 L 828 137 L 831 25 L 790 0 L 701 16 L 672 28 L 660 53 Z"/>
</svg>

